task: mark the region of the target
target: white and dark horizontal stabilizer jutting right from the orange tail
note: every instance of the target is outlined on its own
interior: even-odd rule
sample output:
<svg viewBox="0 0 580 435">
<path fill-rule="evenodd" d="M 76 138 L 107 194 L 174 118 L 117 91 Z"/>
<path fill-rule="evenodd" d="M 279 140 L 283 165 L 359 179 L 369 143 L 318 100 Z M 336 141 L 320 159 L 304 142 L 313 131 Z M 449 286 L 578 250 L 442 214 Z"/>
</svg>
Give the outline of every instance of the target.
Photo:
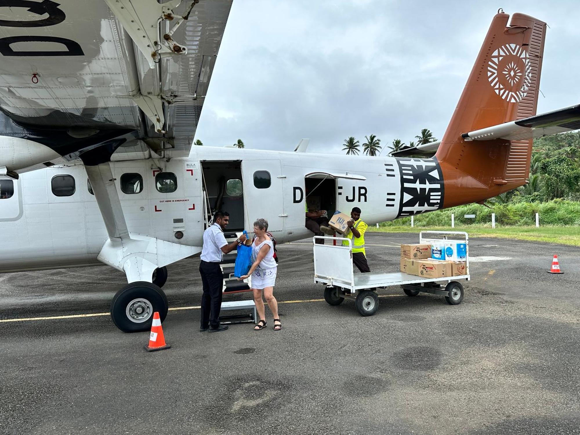
<svg viewBox="0 0 580 435">
<path fill-rule="evenodd" d="M 461 136 L 465 140 L 527 140 L 578 129 L 580 129 L 580 104 L 463 133 Z"/>
</svg>

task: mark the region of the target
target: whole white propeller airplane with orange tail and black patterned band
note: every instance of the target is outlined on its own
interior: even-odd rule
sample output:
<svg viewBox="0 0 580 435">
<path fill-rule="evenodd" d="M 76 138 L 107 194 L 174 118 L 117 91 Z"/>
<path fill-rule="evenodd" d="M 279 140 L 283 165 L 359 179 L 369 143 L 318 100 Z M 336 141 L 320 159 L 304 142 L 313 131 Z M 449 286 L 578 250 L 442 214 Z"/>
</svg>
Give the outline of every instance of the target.
<svg viewBox="0 0 580 435">
<path fill-rule="evenodd" d="M 545 23 L 499 12 L 441 142 L 404 151 L 433 157 L 192 147 L 231 0 L 181 3 L 0 1 L 0 272 L 122 270 L 123 331 L 165 318 L 165 266 L 217 209 L 286 242 L 312 235 L 306 189 L 369 224 L 481 202 L 527 182 L 533 137 L 580 128 L 580 106 L 535 115 Z"/>
</svg>

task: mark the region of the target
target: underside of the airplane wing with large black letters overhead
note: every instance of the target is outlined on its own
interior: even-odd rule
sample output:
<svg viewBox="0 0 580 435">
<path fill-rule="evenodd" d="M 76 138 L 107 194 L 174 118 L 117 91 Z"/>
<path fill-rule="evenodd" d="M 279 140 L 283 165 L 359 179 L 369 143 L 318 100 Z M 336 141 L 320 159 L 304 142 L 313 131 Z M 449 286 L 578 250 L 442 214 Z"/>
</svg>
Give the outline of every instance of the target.
<svg viewBox="0 0 580 435">
<path fill-rule="evenodd" d="M 231 3 L 0 1 L 0 166 L 187 157 Z"/>
</svg>

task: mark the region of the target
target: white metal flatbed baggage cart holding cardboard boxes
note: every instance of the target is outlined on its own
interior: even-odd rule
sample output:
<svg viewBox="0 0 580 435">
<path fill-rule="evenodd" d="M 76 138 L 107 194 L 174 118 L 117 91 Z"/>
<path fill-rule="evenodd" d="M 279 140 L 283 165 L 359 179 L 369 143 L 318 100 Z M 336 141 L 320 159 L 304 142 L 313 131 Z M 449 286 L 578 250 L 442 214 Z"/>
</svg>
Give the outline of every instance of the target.
<svg viewBox="0 0 580 435">
<path fill-rule="evenodd" d="M 332 244 L 316 244 L 324 239 Z M 425 278 L 403 272 L 354 273 L 350 239 L 342 237 L 314 236 L 314 282 L 325 285 L 324 299 L 330 305 L 340 305 L 345 299 L 354 300 L 361 316 L 372 316 L 379 308 L 378 288 L 400 286 L 407 296 L 420 292 L 445 296 L 450 305 L 458 305 L 463 299 L 463 286 L 459 280 L 469 281 L 469 236 L 463 231 L 421 231 L 419 243 L 457 242 L 466 244 L 465 275 L 441 278 Z M 346 241 L 347 246 L 342 242 Z M 443 283 L 443 284 L 441 284 Z"/>
</svg>

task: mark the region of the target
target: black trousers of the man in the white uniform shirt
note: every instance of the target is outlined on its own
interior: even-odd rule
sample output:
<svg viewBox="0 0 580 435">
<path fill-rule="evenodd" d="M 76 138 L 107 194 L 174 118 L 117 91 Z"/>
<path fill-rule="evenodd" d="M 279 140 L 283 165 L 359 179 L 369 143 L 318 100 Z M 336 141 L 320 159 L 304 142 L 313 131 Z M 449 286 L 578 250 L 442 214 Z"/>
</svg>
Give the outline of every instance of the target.
<svg viewBox="0 0 580 435">
<path fill-rule="evenodd" d="M 201 282 L 204 294 L 201 296 L 201 327 L 219 327 L 219 311 L 222 309 L 223 272 L 219 263 L 200 263 Z"/>
</svg>

